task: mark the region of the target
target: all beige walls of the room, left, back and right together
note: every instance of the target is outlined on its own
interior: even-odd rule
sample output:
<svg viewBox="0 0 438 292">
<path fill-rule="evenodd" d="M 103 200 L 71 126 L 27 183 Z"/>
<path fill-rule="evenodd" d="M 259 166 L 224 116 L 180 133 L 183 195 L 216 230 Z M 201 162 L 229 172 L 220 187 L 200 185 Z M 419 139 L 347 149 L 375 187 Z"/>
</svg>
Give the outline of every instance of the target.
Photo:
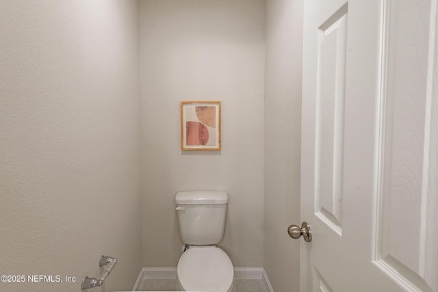
<svg viewBox="0 0 438 292">
<path fill-rule="evenodd" d="M 235 267 L 298 287 L 302 0 L 139 3 L 140 82 L 136 1 L 1 5 L 0 271 L 77 282 L 0 290 L 77 291 L 101 254 L 120 259 L 107 290 L 175 267 L 188 189 L 229 193 Z M 222 102 L 222 150 L 183 152 L 180 101 L 203 100 Z"/>
</svg>

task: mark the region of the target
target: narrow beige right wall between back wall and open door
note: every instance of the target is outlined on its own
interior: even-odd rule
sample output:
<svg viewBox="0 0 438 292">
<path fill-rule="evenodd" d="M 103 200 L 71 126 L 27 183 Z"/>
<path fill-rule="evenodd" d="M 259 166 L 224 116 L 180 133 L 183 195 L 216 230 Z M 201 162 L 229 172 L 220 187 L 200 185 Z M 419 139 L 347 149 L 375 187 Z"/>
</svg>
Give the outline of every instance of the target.
<svg viewBox="0 0 438 292">
<path fill-rule="evenodd" d="M 266 3 L 263 267 L 274 291 L 298 291 L 302 0 Z"/>
</svg>

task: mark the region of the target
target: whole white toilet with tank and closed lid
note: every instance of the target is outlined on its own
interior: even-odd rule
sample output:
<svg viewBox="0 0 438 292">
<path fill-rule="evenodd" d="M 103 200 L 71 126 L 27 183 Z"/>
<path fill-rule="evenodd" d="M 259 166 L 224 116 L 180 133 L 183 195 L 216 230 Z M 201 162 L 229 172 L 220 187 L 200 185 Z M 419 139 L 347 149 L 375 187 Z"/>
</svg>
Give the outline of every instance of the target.
<svg viewBox="0 0 438 292">
<path fill-rule="evenodd" d="M 216 247 L 224 236 L 227 193 L 180 191 L 175 202 L 186 244 L 177 267 L 177 291 L 235 292 L 233 264 Z"/>
</svg>

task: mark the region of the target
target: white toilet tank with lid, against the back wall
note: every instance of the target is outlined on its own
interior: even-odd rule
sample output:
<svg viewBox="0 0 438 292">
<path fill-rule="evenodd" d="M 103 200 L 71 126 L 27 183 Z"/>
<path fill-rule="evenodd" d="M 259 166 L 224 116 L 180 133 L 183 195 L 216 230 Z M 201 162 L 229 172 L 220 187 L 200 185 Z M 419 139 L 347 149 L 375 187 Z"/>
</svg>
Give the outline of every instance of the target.
<svg viewBox="0 0 438 292">
<path fill-rule="evenodd" d="M 175 197 L 179 234 L 185 244 L 214 245 L 224 237 L 225 191 L 179 191 Z"/>
</svg>

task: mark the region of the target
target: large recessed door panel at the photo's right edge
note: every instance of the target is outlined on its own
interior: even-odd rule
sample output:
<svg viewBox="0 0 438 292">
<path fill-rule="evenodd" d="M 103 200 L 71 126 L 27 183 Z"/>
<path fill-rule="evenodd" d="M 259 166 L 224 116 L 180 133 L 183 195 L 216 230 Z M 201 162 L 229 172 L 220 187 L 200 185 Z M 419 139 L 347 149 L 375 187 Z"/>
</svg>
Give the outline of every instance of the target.
<svg viewBox="0 0 438 292">
<path fill-rule="evenodd" d="M 384 23 L 375 256 L 417 291 L 438 290 L 436 14 L 431 1 L 388 1 Z"/>
</svg>

